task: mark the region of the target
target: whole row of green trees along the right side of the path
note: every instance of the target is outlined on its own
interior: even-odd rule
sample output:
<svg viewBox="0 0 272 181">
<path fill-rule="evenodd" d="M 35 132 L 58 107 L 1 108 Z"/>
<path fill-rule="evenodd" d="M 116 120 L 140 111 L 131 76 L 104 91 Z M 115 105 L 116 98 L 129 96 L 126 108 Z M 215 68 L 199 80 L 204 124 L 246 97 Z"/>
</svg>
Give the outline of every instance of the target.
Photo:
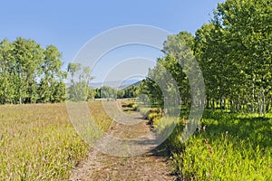
<svg viewBox="0 0 272 181">
<path fill-rule="evenodd" d="M 180 90 L 180 101 L 192 103 L 188 74 L 192 55 L 199 63 L 205 81 L 208 109 L 259 112 L 272 107 L 272 6 L 269 0 L 227 0 L 214 10 L 209 24 L 192 35 L 170 35 L 164 43 L 165 56 L 158 59 L 141 93 L 162 106 L 163 91 L 158 81 L 169 71 Z M 198 73 L 198 72 L 194 72 Z M 166 76 L 167 77 L 167 76 Z M 167 82 L 164 89 L 172 89 Z M 169 98 L 174 99 L 175 98 Z"/>
</svg>

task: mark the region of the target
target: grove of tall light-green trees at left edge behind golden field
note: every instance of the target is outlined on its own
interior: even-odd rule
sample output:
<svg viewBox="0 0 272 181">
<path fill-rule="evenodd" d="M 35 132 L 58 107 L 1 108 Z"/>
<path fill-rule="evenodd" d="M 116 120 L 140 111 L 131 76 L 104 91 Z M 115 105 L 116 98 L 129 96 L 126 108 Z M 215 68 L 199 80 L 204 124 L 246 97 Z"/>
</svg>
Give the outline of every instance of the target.
<svg viewBox="0 0 272 181">
<path fill-rule="evenodd" d="M 65 100 L 66 72 L 62 54 L 53 45 L 44 49 L 18 37 L 0 42 L 0 104 Z"/>
</svg>

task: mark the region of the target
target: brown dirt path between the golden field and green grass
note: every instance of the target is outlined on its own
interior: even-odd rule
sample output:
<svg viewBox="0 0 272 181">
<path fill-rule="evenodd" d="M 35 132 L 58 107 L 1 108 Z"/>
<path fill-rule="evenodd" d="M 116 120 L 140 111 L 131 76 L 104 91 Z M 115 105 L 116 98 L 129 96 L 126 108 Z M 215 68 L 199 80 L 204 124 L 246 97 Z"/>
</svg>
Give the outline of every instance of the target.
<svg viewBox="0 0 272 181">
<path fill-rule="evenodd" d="M 133 119 L 141 119 L 132 113 Z M 135 138 L 151 132 L 147 120 L 136 125 L 114 123 L 112 136 Z M 152 147 L 152 145 L 151 145 Z M 159 147 L 137 157 L 113 157 L 90 149 L 89 157 L 73 170 L 70 180 L 175 180 L 166 151 Z"/>
</svg>

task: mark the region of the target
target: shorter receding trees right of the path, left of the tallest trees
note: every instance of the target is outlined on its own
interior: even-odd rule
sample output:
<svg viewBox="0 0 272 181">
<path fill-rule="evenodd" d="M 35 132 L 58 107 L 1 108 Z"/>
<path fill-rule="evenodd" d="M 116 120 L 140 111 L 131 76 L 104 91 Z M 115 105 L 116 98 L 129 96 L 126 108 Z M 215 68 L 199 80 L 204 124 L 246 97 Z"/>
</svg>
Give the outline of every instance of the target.
<svg viewBox="0 0 272 181">
<path fill-rule="evenodd" d="M 170 35 L 163 44 L 166 55 L 159 58 L 156 66 L 149 70 L 148 78 L 141 82 L 140 94 L 148 95 L 151 106 L 162 108 L 191 103 L 190 83 L 196 85 L 199 70 L 196 67 L 192 46 L 194 38 L 190 33 Z M 195 88 L 197 86 L 193 86 Z"/>
</svg>

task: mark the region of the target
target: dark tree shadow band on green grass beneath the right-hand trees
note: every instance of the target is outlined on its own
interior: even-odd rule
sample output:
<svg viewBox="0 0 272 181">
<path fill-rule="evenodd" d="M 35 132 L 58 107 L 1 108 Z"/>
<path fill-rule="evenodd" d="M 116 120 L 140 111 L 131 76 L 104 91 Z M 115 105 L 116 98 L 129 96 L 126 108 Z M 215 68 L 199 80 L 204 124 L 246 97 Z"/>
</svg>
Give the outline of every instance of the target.
<svg viewBox="0 0 272 181">
<path fill-rule="evenodd" d="M 238 114 L 206 110 L 202 126 L 207 125 L 205 134 L 211 139 L 221 138 L 228 131 L 233 142 L 239 145 L 241 140 L 267 148 L 272 146 L 272 117 L 260 117 L 257 114 Z"/>
</svg>

